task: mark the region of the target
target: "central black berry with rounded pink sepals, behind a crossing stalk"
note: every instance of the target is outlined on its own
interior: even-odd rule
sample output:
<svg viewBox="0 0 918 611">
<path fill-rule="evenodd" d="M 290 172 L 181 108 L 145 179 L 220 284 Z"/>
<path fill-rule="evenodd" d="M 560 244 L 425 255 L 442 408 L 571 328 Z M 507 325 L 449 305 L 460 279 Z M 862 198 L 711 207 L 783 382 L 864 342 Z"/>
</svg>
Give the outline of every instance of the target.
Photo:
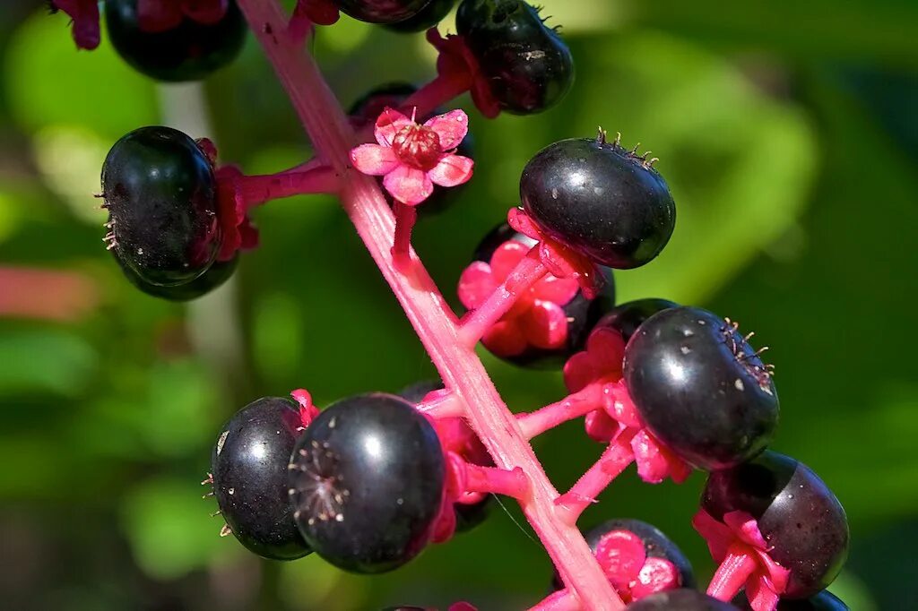
<svg viewBox="0 0 918 611">
<path fill-rule="evenodd" d="M 459 299 L 472 309 L 504 281 L 535 245 L 506 223 L 492 229 L 459 280 Z M 551 368 L 582 350 L 590 328 L 615 305 L 615 282 L 602 270 L 602 290 L 588 299 L 577 280 L 548 274 L 522 295 L 482 343 L 492 354 L 524 367 Z"/>
</svg>

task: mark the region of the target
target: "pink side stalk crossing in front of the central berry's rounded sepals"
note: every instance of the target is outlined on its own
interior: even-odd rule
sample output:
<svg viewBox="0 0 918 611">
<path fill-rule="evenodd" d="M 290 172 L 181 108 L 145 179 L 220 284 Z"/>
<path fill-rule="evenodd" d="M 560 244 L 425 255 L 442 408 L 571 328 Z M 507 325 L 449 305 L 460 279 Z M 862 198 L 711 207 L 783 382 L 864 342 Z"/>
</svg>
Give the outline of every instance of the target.
<svg viewBox="0 0 918 611">
<path fill-rule="evenodd" d="M 532 284 L 542 280 L 547 273 L 548 269 L 539 259 L 539 245 L 536 244 L 526 257 L 517 263 L 507 279 L 487 297 L 485 303 L 470 310 L 463 317 L 459 339 L 466 346 L 475 346 L 487 333 L 487 329 L 507 314 L 522 294 L 529 290 Z"/>
</svg>

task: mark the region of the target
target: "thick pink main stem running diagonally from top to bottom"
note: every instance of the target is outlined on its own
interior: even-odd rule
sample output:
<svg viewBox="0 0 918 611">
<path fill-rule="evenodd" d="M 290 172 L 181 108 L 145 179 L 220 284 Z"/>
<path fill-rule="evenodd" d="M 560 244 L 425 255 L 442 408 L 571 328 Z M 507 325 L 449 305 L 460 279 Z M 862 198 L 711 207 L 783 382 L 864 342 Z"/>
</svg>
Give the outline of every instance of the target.
<svg viewBox="0 0 918 611">
<path fill-rule="evenodd" d="M 529 480 L 532 494 L 521 502 L 523 514 L 542 540 L 565 585 L 585 608 L 620 611 L 621 598 L 612 589 L 587 541 L 576 526 L 558 519 L 554 506 L 557 491 L 549 482 L 513 414 L 500 399 L 494 383 L 478 360 L 473 346 L 458 340 L 452 310 L 418 261 L 410 278 L 398 272 L 391 258 L 395 219 L 375 179 L 352 172 L 349 152 L 353 130 L 319 68 L 307 53 L 284 37 L 265 34 L 265 26 L 283 32 L 285 16 L 276 2 L 239 0 L 252 32 L 284 85 L 313 145 L 336 171 L 346 173 L 341 206 L 364 240 L 379 271 L 405 310 L 418 338 L 440 372 L 443 383 L 469 410 L 469 424 L 485 444 L 498 467 L 519 467 Z"/>
</svg>

